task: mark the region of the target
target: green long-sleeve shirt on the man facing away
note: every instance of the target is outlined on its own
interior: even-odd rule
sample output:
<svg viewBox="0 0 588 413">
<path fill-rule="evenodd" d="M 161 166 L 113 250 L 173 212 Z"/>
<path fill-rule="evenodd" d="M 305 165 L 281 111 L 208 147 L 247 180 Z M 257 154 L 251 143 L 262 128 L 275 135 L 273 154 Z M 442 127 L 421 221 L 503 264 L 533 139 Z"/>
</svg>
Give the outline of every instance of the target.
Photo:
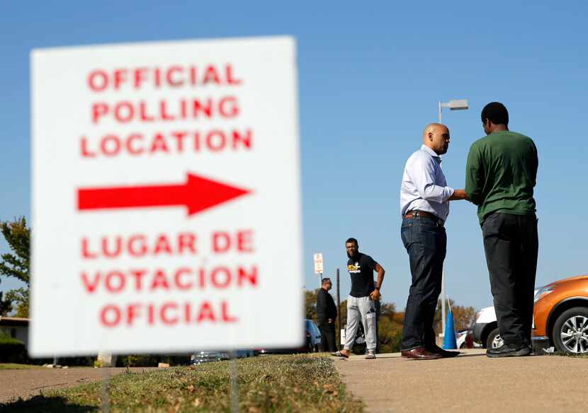
<svg viewBox="0 0 588 413">
<path fill-rule="evenodd" d="M 502 131 L 475 141 L 465 168 L 465 193 L 477 205 L 480 225 L 492 212 L 534 214 L 537 168 L 537 149 L 528 136 Z"/>
</svg>

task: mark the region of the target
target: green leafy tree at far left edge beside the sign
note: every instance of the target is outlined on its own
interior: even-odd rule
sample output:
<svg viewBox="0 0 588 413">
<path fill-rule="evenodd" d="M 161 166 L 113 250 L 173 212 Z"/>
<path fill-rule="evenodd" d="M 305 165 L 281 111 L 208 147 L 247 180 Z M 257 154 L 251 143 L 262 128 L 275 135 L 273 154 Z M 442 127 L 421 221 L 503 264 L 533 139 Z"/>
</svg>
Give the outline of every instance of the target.
<svg viewBox="0 0 588 413">
<path fill-rule="evenodd" d="M 16 308 L 16 317 L 28 317 L 30 286 L 30 228 L 24 216 L 12 222 L 2 222 L 0 231 L 9 244 L 13 254 L 2 254 L 0 276 L 14 277 L 26 285 L 6 293 L 5 301 L 0 301 L 0 310 L 6 306 Z M 1 299 L 1 296 L 0 296 Z"/>
</svg>

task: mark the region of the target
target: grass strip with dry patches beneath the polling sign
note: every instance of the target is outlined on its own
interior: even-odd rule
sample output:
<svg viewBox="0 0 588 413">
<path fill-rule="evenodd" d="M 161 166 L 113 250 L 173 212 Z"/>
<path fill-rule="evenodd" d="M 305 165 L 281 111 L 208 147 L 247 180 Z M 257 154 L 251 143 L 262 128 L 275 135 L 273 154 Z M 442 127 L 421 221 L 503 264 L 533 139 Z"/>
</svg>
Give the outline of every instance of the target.
<svg viewBox="0 0 588 413">
<path fill-rule="evenodd" d="M 239 412 L 363 412 L 324 356 L 238 361 Z M 101 383 L 52 390 L 0 405 L 0 412 L 99 412 Z M 230 412 L 230 362 L 121 373 L 110 381 L 111 412 Z"/>
</svg>

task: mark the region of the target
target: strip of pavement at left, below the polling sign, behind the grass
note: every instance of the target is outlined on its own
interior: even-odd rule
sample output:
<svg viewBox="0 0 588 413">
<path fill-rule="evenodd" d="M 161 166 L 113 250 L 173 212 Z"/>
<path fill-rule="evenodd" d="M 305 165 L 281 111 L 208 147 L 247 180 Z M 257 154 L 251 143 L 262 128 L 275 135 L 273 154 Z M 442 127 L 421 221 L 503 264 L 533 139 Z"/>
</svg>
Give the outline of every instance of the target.
<svg viewBox="0 0 588 413">
<path fill-rule="evenodd" d="M 150 367 L 135 367 L 133 373 L 152 370 Z M 103 370 L 106 370 L 103 371 Z M 28 399 L 53 388 L 70 387 L 102 380 L 105 373 L 115 376 L 125 368 L 34 368 L 26 370 L 0 370 L 0 403 L 21 397 Z"/>
</svg>

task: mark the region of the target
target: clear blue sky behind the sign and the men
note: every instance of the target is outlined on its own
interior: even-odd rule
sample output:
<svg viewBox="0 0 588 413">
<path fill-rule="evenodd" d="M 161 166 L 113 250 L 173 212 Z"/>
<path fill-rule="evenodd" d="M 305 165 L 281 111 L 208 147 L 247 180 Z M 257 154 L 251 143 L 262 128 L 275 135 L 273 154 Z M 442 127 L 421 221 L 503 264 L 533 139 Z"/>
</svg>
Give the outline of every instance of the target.
<svg viewBox="0 0 588 413">
<path fill-rule="evenodd" d="M 588 5 L 581 1 L 0 3 L 0 220 L 30 216 L 29 52 L 38 47 L 151 40 L 293 35 L 298 42 L 303 231 L 307 288 L 341 268 L 344 240 L 386 269 L 383 299 L 404 308 L 409 287 L 400 241 L 402 168 L 420 146 L 439 100 L 451 147 L 449 185 L 463 187 L 480 110 L 509 108 L 510 128 L 538 147 L 540 251 L 537 285 L 585 274 L 588 223 L 584 144 Z M 447 222 L 447 291 L 456 303 L 492 303 L 475 206 L 457 202 Z M 8 249 L 0 241 L 0 251 Z M 3 279 L 0 291 L 18 284 Z"/>
</svg>

